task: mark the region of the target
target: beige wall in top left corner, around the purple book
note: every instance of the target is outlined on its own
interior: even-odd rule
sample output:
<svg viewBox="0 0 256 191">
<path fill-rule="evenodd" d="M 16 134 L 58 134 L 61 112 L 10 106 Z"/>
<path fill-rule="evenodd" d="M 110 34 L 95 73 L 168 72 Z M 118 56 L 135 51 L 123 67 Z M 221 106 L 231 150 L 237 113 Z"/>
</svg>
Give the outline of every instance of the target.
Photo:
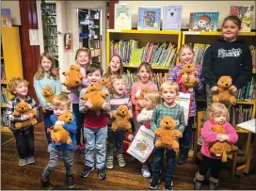
<svg viewBox="0 0 256 191">
<path fill-rule="evenodd" d="M 22 25 L 19 1 L 2 1 L 1 8 L 9 8 L 12 25 Z"/>
</svg>

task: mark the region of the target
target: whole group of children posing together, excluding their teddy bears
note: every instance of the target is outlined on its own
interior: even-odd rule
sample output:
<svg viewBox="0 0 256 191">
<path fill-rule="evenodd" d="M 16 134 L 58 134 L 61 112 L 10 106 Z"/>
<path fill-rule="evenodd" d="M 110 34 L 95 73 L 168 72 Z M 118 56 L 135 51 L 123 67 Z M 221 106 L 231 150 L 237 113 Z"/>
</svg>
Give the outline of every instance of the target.
<svg viewBox="0 0 256 191">
<path fill-rule="evenodd" d="M 203 84 L 206 82 L 207 101 L 210 103 L 207 107 L 208 120 L 205 121 L 201 130 L 203 154 L 200 169 L 195 175 L 195 189 L 201 189 L 202 181 L 209 167 L 212 167 L 210 177 L 210 188 L 216 188 L 218 183 L 218 174 L 221 169 L 220 157 L 214 156 L 210 152 L 210 145 L 216 141 L 228 141 L 233 144 L 238 136 L 235 133 L 229 121 L 229 111 L 222 103 L 212 103 L 212 93 L 216 91 L 216 82 L 221 75 L 231 75 L 234 88 L 241 88 L 246 85 L 251 78 L 252 63 L 251 55 L 248 46 L 242 40 L 236 39 L 238 31 L 241 28 L 240 20 L 235 16 L 227 17 L 222 24 L 222 37 L 207 49 L 202 71 L 196 66 L 199 82 L 195 88 L 187 89 L 186 91 L 192 94 L 189 120 L 187 125 L 184 121 L 183 107 L 176 103 L 179 96 L 179 89 L 184 89 L 181 85 L 181 69 L 186 63 L 193 63 L 193 49 L 189 45 L 183 45 L 179 51 L 180 64 L 173 67 L 168 72 L 168 80 L 157 89 L 157 86 L 151 81 L 152 68 L 147 62 L 142 62 L 137 69 L 138 80 L 132 85 L 132 88 L 123 74 L 122 63 L 120 56 L 112 56 L 108 65 L 108 70 L 104 74 L 105 77 L 111 78 L 111 82 L 102 90 L 108 93 L 108 89 L 112 87 L 114 93 L 110 94 L 103 104 L 103 109 L 100 113 L 91 110 L 92 104 L 88 101 L 83 101 L 81 97 L 87 92 L 88 84 L 101 83 L 103 77 L 103 69 L 98 64 L 89 64 L 90 52 L 88 49 L 79 49 L 76 52 L 76 64 L 81 66 L 81 72 L 84 75 L 80 88 L 71 88 L 71 99 L 68 96 L 61 94 L 61 83 L 56 74 L 55 60 L 53 56 L 44 53 L 40 56 L 39 71 L 34 77 L 34 88 L 40 106 L 46 108 L 46 113 L 43 113 L 45 126 L 45 134 L 48 141 L 48 152 L 50 159 L 47 167 L 45 167 L 40 183 L 45 189 L 52 189 L 54 186 L 50 182 L 50 174 L 56 168 L 59 158 L 63 158 L 67 171 L 67 184 L 69 188 L 75 186 L 72 171 L 73 151 L 85 151 L 85 166 L 80 176 L 88 177 L 89 173 L 94 170 L 94 151 L 96 150 L 96 168 L 99 178 L 104 180 L 107 178 L 105 168 L 113 168 L 114 149 L 117 149 L 117 161 L 120 167 L 124 167 L 125 160 L 123 158 L 123 140 L 125 131 L 120 130 L 113 132 L 111 130 L 112 113 L 117 111 L 119 105 L 126 105 L 129 112 L 134 115 L 135 131 L 141 124 L 147 124 L 152 131 L 160 127 L 160 120 L 165 116 L 170 116 L 176 121 L 177 129 L 183 133 L 183 138 L 180 140 L 181 151 L 178 160 L 176 161 L 176 153 L 173 150 L 165 148 L 154 148 L 152 153 L 152 174 L 147 166 L 143 163 L 141 171 L 144 177 L 152 177 L 149 187 L 157 189 L 160 182 L 160 172 L 164 152 L 166 152 L 166 183 L 165 189 L 173 189 L 173 173 L 175 164 L 183 165 L 187 153 L 189 151 L 192 124 L 196 116 L 196 100 L 195 91 L 202 91 Z M 232 54 L 233 50 L 239 54 Z M 220 51 L 222 50 L 222 51 Z M 225 53 L 225 54 L 224 54 Z M 222 54 L 220 56 L 220 54 Z M 224 55 L 223 55 L 224 54 Z M 202 77 L 203 76 L 203 77 Z M 17 150 L 19 152 L 19 166 L 32 164 L 34 159 L 34 128 L 25 127 L 22 130 L 17 130 L 14 127 L 15 121 L 31 119 L 33 116 L 21 115 L 18 117 L 12 116 L 12 112 L 16 108 L 17 103 L 29 103 L 32 108 L 36 108 L 35 101 L 27 96 L 28 83 L 21 78 L 13 78 L 9 84 L 10 91 L 14 94 L 8 102 L 8 119 L 11 120 L 11 130 L 16 138 Z M 57 94 L 53 104 L 46 103 L 41 90 L 44 87 L 51 87 L 54 93 Z M 151 91 L 146 93 L 144 100 L 136 100 L 141 88 L 150 88 Z M 209 91 L 209 92 L 208 92 Z M 70 132 L 72 145 L 57 144 L 51 140 L 51 136 L 46 129 L 55 125 L 57 118 L 70 109 L 72 103 L 73 121 L 71 124 L 61 122 L 63 127 Z M 142 109 L 138 112 L 135 108 L 139 105 Z M 224 126 L 227 134 L 221 135 L 211 132 L 213 124 L 221 124 Z M 81 140 L 81 134 L 83 140 Z M 131 137 L 132 139 L 133 137 Z M 161 138 L 160 136 L 155 138 Z M 177 137 L 173 137 L 176 138 Z M 106 150 L 107 140 L 107 150 Z"/>
</svg>

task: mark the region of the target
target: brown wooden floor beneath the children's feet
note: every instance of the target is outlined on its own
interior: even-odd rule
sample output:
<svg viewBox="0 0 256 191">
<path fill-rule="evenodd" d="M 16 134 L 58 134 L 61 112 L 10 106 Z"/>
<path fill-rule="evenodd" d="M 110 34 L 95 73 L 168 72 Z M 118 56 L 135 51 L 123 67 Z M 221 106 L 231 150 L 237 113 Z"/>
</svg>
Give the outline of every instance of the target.
<svg viewBox="0 0 256 191">
<path fill-rule="evenodd" d="M 15 139 L 10 140 L 1 148 L 1 188 L 8 190 L 40 190 L 40 175 L 48 164 L 49 154 L 46 151 L 47 143 L 42 124 L 35 131 L 35 159 L 36 163 L 25 167 L 19 167 Z M 92 172 L 87 179 L 82 179 L 79 174 L 83 170 L 84 155 L 74 155 L 74 177 L 76 189 L 83 190 L 147 190 L 150 179 L 141 176 L 140 166 L 125 155 L 126 167 L 118 167 L 115 162 L 114 168 L 107 170 L 108 178 L 100 180 L 96 172 Z M 198 166 L 189 160 L 184 166 L 176 166 L 174 173 L 174 189 L 193 189 L 193 177 Z M 61 161 L 51 175 L 51 181 L 55 189 L 67 189 L 65 183 L 65 167 Z M 164 189 L 164 182 L 160 183 L 159 189 Z M 220 174 L 218 189 L 249 190 L 256 188 L 256 174 L 250 173 L 244 178 L 231 178 L 229 171 L 223 169 Z M 203 189 L 209 189 L 207 183 Z"/>
</svg>

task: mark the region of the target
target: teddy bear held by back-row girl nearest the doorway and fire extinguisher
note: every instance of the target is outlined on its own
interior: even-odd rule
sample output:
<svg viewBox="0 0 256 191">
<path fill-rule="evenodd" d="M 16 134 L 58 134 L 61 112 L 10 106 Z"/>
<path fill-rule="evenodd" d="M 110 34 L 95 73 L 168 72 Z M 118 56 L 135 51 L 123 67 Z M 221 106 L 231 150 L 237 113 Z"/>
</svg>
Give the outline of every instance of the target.
<svg viewBox="0 0 256 191">
<path fill-rule="evenodd" d="M 71 65 L 69 72 L 62 72 L 64 76 L 67 76 L 66 80 L 62 83 L 68 88 L 77 88 L 81 85 L 83 74 L 80 72 L 79 65 Z"/>
</svg>

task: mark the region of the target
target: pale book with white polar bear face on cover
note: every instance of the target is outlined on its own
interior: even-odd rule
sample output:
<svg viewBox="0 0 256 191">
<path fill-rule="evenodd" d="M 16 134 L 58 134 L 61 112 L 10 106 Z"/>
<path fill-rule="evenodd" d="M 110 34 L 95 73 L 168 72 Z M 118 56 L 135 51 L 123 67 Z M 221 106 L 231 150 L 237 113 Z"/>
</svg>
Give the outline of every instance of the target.
<svg viewBox="0 0 256 191">
<path fill-rule="evenodd" d="M 181 30 L 183 6 L 164 6 L 163 30 Z"/>
</svg>

